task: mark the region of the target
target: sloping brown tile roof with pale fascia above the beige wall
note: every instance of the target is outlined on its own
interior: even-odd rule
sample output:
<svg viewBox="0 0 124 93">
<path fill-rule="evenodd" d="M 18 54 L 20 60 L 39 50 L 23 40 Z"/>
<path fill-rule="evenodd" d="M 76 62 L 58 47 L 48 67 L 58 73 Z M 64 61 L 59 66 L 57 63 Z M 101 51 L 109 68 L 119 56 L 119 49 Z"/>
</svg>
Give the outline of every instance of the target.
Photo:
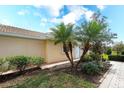
<svg viewBox="0 0 124 93">
<path fill-rule="evenodd" d="M 2 25 L 0 24 L 0 35 L 34 38 L 34 39 L 46 39 L 46 34 L 36 31 L 30 31 L 18 27 Z"/>
</svg>

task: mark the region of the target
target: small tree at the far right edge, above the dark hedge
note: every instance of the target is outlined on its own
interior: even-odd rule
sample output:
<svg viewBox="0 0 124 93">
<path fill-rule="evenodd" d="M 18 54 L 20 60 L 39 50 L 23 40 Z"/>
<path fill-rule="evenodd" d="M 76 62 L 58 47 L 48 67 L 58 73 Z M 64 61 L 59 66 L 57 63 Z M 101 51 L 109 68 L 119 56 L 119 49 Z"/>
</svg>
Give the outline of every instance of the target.
<svg viewBox="0 0 124 93">
<path fill-rule="evenodd" d="M 124 51 L 124 44 L 123 44 L 123 42 L 122 41 L 121 42 L 117 42 L 113 46 L 112 50 L 117 51 L 118 55 L 121 54 L 121 52 Z"/>
</svg>

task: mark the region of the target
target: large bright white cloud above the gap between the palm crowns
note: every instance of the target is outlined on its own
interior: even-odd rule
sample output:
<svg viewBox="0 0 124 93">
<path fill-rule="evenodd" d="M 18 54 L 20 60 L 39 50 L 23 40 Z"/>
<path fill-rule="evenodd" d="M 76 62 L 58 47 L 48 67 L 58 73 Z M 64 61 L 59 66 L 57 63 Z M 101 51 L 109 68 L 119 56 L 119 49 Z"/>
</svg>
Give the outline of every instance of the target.
<svg viewBox="0 0 124 93">
<path fill-rule="evenodd" d="M 93 15 L 93 11 L 88 10 L 82 6 L 68 6 L 70 12 L 63 16 L 63 22 L 65 24 L 68 23 L 76 23 L 76 21 L 80 20 L 82 16 L 85 16 L 86 20 L 90 20 Z"/>
</svg>

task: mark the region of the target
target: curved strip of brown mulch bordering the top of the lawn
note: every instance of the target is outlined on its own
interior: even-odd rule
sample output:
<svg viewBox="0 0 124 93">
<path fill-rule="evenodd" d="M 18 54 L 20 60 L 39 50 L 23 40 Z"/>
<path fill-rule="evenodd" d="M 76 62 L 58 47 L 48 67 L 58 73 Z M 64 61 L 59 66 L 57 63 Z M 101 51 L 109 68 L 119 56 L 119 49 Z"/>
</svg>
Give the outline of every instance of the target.
<svg viewBox="0 0 124 93">
<path fill-rule="evenodd" d="M 6 86 L 10 85 L 11 83 L 13 84 L 13 82 L 16 82 L 16 83 L 18 83 L 19 81 L 21 82 L 25 78 L 30 78 L 33 75 L 37 75 L 38 73 L 41 73 L 41 71 L 45 71 L 46 73 L 62 71 L 64 73 L 79 76 L 85 80 L 93 82 L 94 84 L 96 84 L 96 86 L 99 86 L 99 84 L 100 84 L 99 80 L 103 77 L 103 75 L 107 71 L 107 70 L 103 71 L 102 73 L 100 73 L 99 75 L 96 75 L 96 76 L 90 76 L 90 75 L 84 74 L 80 70 L 78 71 L 78 73 L 75 74 L 71 71 L 70 67 L 62 67 L 60 69 L 58 69 L 58 67 L 57 67 L 57 69 L 55 69 L 55 68 L 56 67 L 46 69 L 46 70 L 41 70 L 40 68 L 35 67 L 35 68 L 26 69 L 25 71 L 23 71 L 23 73 L 20 73 L 19 71 L 17 71 L 16 73 L 2 75 L 2 76 L 0 76 L 0 87 L 6 87 Z M 16 84 L 16 83 L 14 83 L 14 84 Z"/>
</svg>

